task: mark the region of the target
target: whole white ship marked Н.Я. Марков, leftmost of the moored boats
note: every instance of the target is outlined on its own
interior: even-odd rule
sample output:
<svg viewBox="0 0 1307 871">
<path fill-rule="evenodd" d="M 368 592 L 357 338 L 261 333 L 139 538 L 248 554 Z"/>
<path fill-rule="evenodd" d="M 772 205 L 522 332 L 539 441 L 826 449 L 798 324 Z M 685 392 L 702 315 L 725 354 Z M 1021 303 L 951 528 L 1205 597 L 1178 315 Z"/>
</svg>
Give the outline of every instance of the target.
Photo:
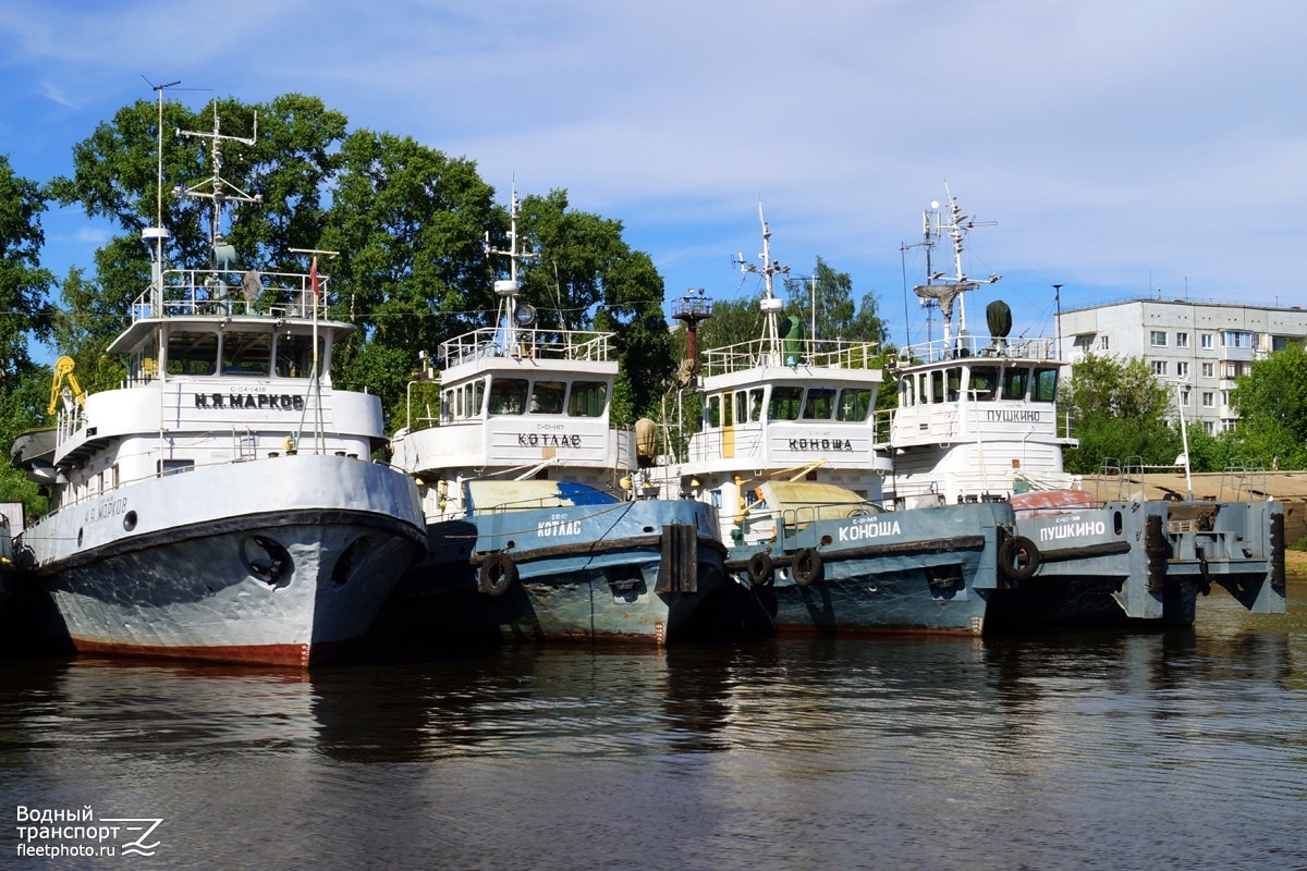
<svg viewBox="0 0 1307 871">
<path fill-rule="evenodd" d="M 152 282 L 108 347 L 125 381 L 84 394 L 61 359 L 52 448 L 14 447 L 51 505 L 22 546 L 78 650 L 305 667 L 369 628 L 425 548 L 421 507 L 369 460 L 386 443 L 378 398 L 331 384 L 353 326 L 319 320 L 316 255 L 307 274 L 237 268 L 222 202 L 256 197 L 220 176 L 235 137 L 217 115 L 197 136 L 212 189 L 188 193 L 213 200 L 213 259 L 165 269 L 167 232 L 145 231 Z"/>
</svg>

